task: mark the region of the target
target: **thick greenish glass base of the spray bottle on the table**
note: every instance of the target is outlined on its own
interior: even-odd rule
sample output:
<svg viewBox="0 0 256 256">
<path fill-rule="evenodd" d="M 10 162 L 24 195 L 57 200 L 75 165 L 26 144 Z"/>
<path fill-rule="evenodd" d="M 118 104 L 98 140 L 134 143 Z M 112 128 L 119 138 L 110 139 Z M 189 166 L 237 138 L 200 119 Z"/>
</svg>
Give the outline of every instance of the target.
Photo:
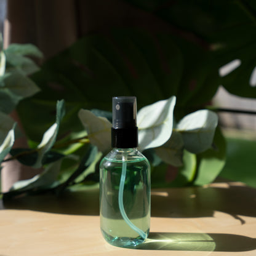
<svg viewBox="0 0 256 256">
<path fill-rule="evenodd" d="M 111 244 L 112 246 L 117 246 L 117 247 L 127 247 L 127 248 L 132 248 L 136 247 L 139 244 L 142 244 L 145 239 L 143 239 L 141 236 L 138 236 L 137 238 L 129 238 L 129 237 L 113 237 L 110 236 L 109 234 L 105 233 L 105 231 L 102 230 L 103 238 Z"/>
</svg>

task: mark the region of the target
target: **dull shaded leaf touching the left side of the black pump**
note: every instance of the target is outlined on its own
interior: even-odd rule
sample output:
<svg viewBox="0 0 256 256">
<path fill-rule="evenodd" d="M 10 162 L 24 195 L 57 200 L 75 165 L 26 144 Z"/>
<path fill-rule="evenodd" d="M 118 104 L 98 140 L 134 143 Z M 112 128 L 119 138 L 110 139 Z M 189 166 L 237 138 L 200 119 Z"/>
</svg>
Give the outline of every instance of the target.
<svg viewBox="0 0 256 256">
<path fill-rule="evenodd" d="M 79 119 L 86 128 L 88 138 L 98 150 L 106 153 L 111 148 L 111 122 L 106 118 L 95 116 L 89 110 L 79 110 Z"/>
</svg>

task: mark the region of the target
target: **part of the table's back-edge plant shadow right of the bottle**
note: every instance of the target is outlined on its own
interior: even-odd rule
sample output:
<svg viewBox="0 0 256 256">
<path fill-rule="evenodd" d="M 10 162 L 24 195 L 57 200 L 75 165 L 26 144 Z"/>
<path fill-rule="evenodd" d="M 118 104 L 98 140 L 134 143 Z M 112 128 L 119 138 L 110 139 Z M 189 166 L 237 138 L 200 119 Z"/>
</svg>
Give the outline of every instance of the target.
<svg viewBox="0 0 256 256">
<path fill-rule="evenodd" d="M 256 217 L 256 189 L 236 183 L 159 189 L 152 191 L 151 199 L 154 217 L 212 217 L 218 211 L 236 218 L 241 225 L 246 223 L 243 216 Z"/>
</svg>

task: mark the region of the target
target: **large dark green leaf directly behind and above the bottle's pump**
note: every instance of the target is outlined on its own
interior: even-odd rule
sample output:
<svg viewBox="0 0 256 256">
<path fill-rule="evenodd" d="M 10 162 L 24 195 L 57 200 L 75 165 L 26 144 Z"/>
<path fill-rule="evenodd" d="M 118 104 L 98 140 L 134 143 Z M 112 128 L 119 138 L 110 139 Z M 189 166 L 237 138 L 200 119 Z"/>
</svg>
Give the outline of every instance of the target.
<svg viewBox="0 0 256 256">
<path fill-rule="evenodd" d="M 33 74 L 42 91 L 23 100 L 18 113 L 26 134 L 38 141 L 46 125 L 54 122 L 58 98 L 66 101 L 60 132 L 78 131 L 76 114 L 81 108 L 111 110 L 114 95 L 135 95 L 140 108 L 174 95 L 181 76 L 182 54 L 170 35 L 114 30 L 108 36 L 86 36 Z M 30 119 L 34 122 L 28 125 Z"/>
</svg>

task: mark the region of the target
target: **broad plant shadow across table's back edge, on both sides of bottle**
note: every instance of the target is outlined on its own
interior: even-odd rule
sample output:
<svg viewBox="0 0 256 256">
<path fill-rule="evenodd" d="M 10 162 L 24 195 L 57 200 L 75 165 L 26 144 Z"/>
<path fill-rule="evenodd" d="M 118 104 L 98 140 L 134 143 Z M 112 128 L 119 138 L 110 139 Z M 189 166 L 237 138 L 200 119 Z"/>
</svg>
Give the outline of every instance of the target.
<svg viewBox="0 0 256 256">
<path fill-rule="evenodd" d="M 243 216 L 256 217 L 256 189 L 228 183 L 210 187 L 162 188 L 151 192 L 151 216 L 166 218 L 213 217 L 225 212 L 241 225 Z M 99 191 L 66 191 L 62 196 L 42 194 L 4 201 L 0 209 L 29 209 L 74 215 L 98 215 Z"/>
</svg>

